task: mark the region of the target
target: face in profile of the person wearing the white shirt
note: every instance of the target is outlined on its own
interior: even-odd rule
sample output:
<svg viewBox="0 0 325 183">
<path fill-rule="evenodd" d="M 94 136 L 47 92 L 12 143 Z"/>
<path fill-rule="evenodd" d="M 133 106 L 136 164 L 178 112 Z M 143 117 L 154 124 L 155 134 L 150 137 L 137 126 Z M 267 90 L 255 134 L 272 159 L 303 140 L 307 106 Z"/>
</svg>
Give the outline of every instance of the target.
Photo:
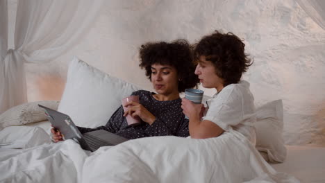
<svg viewBox="0 0 325 183">
<path fill-rule="evenodd" d="M 215 73 L 215 66 L 212 62 L 207 61 L 205 56 L 200 56 L 199 63 L 194 73 L 199 76 L 199 80 L 203 87 L 215 88 L 218 92 L 224 88 L 224 80 L 217 76 L 217 73 Z"/>
</svg>

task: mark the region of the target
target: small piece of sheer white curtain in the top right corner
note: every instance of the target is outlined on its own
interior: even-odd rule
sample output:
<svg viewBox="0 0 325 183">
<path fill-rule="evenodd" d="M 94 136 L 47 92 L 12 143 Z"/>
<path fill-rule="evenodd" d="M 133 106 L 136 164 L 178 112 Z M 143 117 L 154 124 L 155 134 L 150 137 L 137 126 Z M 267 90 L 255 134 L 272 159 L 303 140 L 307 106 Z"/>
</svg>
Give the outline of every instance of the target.
<svg viewBox="0 0 325 183">
<path fill-rule="evenodd" d="M 296 0 L 299 6 L 323 29 L 325 29 L 324 0 Z"/>
</svg>

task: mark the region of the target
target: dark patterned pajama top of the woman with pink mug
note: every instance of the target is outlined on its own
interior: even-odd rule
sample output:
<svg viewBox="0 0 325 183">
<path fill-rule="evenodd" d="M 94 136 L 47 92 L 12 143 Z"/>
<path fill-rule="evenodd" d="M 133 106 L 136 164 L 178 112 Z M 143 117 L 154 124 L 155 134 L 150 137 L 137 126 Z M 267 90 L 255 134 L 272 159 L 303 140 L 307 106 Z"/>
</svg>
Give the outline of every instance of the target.
<svg viewBox="0 0 325 183">
<path fill-rule="evenodd" d="M 81 133 L 94 130 L 107 130 L 127 139 L 138 139 L 141 137 L 174 135 L 178 137 L 188 137 L 188 119 L 185 119 L 181 109 L 181 98 L 172 101 L 157 101 L 149 91 L 139 90 L 131 95 L 139 96 L 140 104 L 143 105 L 156 121 L 151 125 L 142 121 L 140 125 L 128 126 L 126 117 L 123 116 L 122 105 L 110 117 L 108 123 L 97 128 L 78 127 Z"/>
</svg>

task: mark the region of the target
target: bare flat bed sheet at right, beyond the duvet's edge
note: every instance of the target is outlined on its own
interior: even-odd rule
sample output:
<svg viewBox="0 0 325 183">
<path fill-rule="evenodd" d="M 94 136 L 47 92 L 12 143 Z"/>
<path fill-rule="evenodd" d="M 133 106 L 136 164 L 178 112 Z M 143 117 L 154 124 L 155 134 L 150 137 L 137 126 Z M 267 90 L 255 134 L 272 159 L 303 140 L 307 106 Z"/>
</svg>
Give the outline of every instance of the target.
<svg viewBox="0 0 325 183">
<path fill-rule="evenodd" d="M 276 171 L 289 173 L 302 183 L 325 182 L 325 147 L 286 146 L 283 164 L 271 164 Z"/>
</svg>

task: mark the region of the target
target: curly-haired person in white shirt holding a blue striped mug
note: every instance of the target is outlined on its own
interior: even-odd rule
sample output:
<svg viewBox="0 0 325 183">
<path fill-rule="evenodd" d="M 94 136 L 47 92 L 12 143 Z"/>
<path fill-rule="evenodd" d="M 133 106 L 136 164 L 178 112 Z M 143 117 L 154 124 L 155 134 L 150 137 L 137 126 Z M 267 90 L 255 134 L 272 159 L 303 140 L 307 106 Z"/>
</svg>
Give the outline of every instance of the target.
<svg viewBox="0 0 325 183">
<path fill-rule="evenodd" d="M 241 80 L 252 62 L 244 53 L 245 44 L 233 33 L 215 32 L 203 37 L 194 46 L 195 74 L 203 87 L 217 89 L 207 101 L 206 116 L 201 118 L 201 104 L 195 105 L 183 98 L 182 108 L 189 116 L 190 136 L 196 139 L 217 137 L 235 130 L 256 141 L 256 121 L 253 95 L 249 82 Z"/>
</svg>

